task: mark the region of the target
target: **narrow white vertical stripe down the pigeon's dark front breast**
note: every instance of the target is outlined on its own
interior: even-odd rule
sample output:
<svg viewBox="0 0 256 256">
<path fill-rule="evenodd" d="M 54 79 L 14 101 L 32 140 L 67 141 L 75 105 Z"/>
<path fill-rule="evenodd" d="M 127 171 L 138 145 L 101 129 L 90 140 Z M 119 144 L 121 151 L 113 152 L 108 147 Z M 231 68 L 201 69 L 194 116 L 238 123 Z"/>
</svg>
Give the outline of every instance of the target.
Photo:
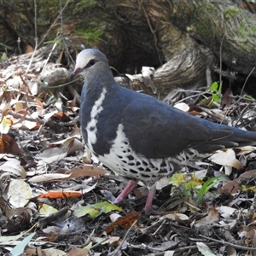
<svg viewBox="0 0 256 256">
<path fill-rule="evenodd" d="M 105 99 L 106 93 L 107 93 L 107 90 L 105 88 L 103 88 L 101 96 L 96 100 L 93 107 L 91 108 L 90 122 L 86 126 L 86 131 L 87 131 L 87 135 L 88 135 L 87 146 L 88 146 L 91 153 L 94 152 L 92 144 L 95 144 L 96 140 L 97 140 L 97 138 L 96 138 L 96 132 L 97 132 L 96 124 L 98 122 L 98 116 L 103 110 L 102 102 Z"/>
</svg>

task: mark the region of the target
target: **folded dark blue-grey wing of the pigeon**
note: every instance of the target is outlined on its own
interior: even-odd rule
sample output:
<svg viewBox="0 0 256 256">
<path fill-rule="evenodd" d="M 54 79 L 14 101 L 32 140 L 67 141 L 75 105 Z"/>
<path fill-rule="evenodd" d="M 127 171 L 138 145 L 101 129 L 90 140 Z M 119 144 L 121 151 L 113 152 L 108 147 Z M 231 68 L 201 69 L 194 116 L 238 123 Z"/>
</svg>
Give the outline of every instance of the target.
<svg viewBox="0 0 256 256">
<path fill-rule="evenodd" d="M 149 102 L 142 100 L 129 104 L 123 116 L 131 147 L 147 158 L 166 158 L 232 134 L 232 131 L 212 131 L 202 125 L 199 118 L 163 102 L 150 102 L 150 99 Z"/>
</svg>

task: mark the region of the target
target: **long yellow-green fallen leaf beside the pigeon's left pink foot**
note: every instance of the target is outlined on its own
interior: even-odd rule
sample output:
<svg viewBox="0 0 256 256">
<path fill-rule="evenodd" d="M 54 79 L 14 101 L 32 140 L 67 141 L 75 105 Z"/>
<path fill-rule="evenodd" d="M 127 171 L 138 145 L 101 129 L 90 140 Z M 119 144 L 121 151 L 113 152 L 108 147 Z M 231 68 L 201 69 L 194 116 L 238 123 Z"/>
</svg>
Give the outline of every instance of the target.
<svg viewBox="0 0 256 256">
<path fill-rule="evenodd" d="M 86 207 L 79 207 L 78 209 L 74 210 L 73 214 L 76 217 L 82 217 L 86 214 L 90 214 L 90 217 L 92 218 L 96 218 L 99 215 L 102 214 L 102 212 L 104 213 L 108 213 L 108 212 L 112 212 L 112 211 L 122 211 L 122 208 L 110 204 L 108 201 L 102 201 L 99 203 L 96 203 L 94 205 L 89 205 Z"/>
</svg>

